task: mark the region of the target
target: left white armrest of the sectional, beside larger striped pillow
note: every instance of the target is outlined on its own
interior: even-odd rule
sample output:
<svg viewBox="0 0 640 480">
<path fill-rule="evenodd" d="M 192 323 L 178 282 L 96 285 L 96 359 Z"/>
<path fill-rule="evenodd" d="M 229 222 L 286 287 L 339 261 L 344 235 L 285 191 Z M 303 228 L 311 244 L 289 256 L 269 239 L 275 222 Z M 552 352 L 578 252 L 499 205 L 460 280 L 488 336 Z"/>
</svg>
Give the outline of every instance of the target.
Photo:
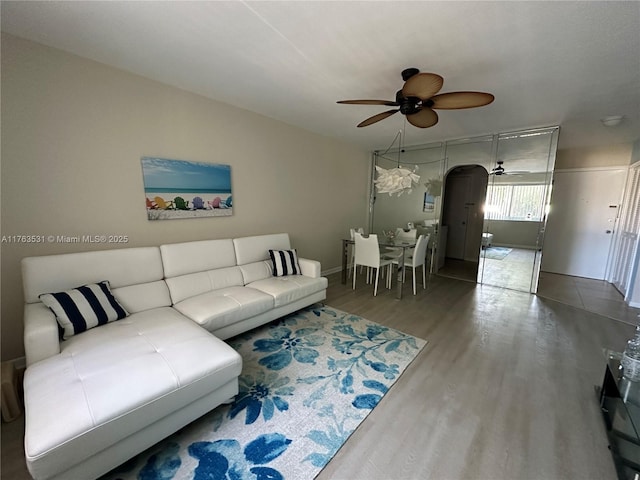
<svg viewBox="0 0 640 480">
<path fill-rule="evenodd" d="M 60 353 L 58 322 L 42 303 L 24 306 L 24 350 L 27 367 Z"/>
</svg>

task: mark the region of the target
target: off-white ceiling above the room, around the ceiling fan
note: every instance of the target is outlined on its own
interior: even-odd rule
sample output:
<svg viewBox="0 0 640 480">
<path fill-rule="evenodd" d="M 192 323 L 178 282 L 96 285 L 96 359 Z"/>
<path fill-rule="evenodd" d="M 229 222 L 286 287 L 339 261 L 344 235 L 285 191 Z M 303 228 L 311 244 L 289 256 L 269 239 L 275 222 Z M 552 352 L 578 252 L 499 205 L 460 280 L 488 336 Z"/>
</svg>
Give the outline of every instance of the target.
<svg viewBox="0 0 640 480">
<path fill-rule="evenodd" d="M 405 125 L 400 72 L 496 100 L 405 144 L 560 125 L 560 147 L 640 138 L 640 2 L 12 2 L 2 30 L 369 150 Z M 624 115 L 616 128 L 600 119 Z"/>
</svg>

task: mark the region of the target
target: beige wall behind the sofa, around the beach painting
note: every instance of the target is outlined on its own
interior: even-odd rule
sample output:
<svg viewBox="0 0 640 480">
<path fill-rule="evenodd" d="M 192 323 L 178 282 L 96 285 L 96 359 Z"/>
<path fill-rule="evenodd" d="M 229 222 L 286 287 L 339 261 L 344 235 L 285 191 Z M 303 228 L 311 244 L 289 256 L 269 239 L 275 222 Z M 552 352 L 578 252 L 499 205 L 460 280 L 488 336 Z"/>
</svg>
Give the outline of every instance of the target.
<svg viewBox="0 0 640 480">
<path fill-rule="evenodd" d="M 25 256 L 284 231 L 326 271 L 366 223 L 370 155 L 356 147 L 7 35 L 1 86 L 3 360 L 23 355 Z M 142 156 L 231 165 L 234 215 L 148 221 Z M 98 234 L 129 242 L 7 240 Z"/>
</svg>

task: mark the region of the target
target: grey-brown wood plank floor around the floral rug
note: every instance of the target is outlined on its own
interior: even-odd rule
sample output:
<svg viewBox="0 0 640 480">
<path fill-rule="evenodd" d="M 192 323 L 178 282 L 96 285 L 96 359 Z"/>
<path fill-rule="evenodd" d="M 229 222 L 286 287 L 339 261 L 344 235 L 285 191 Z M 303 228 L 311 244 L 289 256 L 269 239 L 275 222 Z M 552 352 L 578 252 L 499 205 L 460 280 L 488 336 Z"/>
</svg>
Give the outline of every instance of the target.
<svg viewBox="0 0 640 480">
<path fill-rule="evenodd" d="M 441 276 L 372 293 L 334 274 L 326 303 L 429 343 L 318 480 L 616 478 L 594 385 L 632 325 Z M 23 430 L 2 424 L 2 479 L 29 478 Z"/>
</svg>

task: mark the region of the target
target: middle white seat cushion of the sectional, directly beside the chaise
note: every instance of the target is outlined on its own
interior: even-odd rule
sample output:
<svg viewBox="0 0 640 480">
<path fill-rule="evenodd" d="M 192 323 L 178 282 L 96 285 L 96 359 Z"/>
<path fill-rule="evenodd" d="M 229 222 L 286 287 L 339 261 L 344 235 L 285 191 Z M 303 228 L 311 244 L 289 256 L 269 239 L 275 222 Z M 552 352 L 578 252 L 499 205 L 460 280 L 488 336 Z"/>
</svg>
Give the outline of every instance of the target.
<svg viewBox="0 0 640 480">
<path fill-rule="evenodd" d="M 247 287 L 228 287 L 189 297 L 174 308 L 209 331 L 274 307 L 273 296 Z"/>
</svg>

